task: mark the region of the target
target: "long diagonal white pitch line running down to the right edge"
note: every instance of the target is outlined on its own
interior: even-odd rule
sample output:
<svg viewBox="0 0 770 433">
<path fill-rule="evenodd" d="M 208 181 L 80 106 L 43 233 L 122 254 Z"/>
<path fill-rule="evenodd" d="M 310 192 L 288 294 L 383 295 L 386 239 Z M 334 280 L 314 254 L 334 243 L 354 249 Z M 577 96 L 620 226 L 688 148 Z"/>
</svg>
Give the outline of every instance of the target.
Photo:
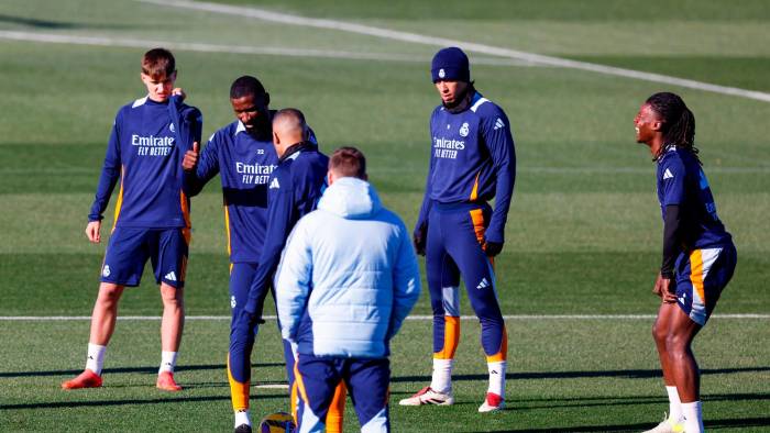
<svg viewBox="0 0 770 433">
<path fill-rule="evenodd" d="M 718 86 L 708 82 L 695 81 L 691 79 L 676 78 L 671 76 L 666 76 L 661 74 L 642 73 L 639 70 L 617 68 L 606 65 L 597 65 L 587 62 L 570 60 L 566 58 L 544 56 L 535 53 L 527 53 L 517 49 L 508 49 L 496 47 L 492 45 L 477 44 L 473 42 L 457 41 L 447 37 L 436 37 L 428 36 L 418 33 L 402 32 L 396 30 L 388 30 L 382 27 L 375 27 L 372 25 L 356 24 L 344 21 L 307 18 L 300 15 L 293 15 L 288 13 L 273 12 L 265 9 L 250 8 L 250 7 L 238 7 L 228 4 L 216 4 L 202 1 L 187 1 L 187 0 L 138 0 L 144 3 L 153 3 L 161 5 L 168 5 L 175 8 L 186 8 L 194 9 L 205 12 L 223 13 L 230 15 L 253 18 L 263 21 L 278 22 L 283 24 L 290 25 L 302 25 L 316 29 L 328 29 L 338 30 L 350 33 L 365 34 L 370 36 L 383 37 L 388 40 L 409 42 L 421 45 L 431 46 L 459 46 L 465 51 L 472 53 L 480 53 L 499 57 L 506 57 L 516 60 L 524 60 L 546 66 L 556 66 L 571 69 L 587 70 L 592 73 L 612 75 L 617 77 L 634 78 L 645 81 L 662 82 L 666 85 L 673 85 L 685 87 L 690 89 L 704 90 L 714 93 L 730 95 L 741 98 L 755 99 L 758 101 L 770 102 L 770 93 L 739 89 L 736 87 Z"/>
</svg>

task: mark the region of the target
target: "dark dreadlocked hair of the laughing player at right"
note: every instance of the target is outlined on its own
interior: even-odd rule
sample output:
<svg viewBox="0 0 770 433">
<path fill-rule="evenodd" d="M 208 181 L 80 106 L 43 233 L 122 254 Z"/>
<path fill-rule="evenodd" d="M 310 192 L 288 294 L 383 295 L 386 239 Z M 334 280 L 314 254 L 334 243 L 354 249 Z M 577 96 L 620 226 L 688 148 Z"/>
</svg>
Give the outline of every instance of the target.
<svg viewBox="0 0 770 433">
<path fill-rule="evenodd" d="M 690 151 L 697 163 L 697 147 L 695 147 L 695 115 L 684 103 L 679 95 L 671 92 L 654 93 L 646 103 L 652 108 L 662 120 L 663 146 L 658 149 L 654 160 L 658 160 L 669 148 L 676 146 Z"/>
</svg>

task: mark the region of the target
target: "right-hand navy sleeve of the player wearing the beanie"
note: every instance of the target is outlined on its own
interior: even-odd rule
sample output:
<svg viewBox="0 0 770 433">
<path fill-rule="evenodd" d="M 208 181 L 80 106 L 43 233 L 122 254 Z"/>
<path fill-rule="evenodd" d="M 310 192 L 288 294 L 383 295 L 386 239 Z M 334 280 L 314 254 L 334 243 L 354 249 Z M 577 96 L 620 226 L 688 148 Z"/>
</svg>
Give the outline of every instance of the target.
<svg viewBox="0 0 770 433">
<path fill-rule="evenodd" d="M 485 116 L 482 123 L 482 136 L 492 156 L 496 178 L 495 209 L 492 212 L 485 238 L 491 242 L 503 242 L 516 181 L 516 149 L 508 118 L 502 110 L 496 109 L 492 115 Z"/>
</svg>

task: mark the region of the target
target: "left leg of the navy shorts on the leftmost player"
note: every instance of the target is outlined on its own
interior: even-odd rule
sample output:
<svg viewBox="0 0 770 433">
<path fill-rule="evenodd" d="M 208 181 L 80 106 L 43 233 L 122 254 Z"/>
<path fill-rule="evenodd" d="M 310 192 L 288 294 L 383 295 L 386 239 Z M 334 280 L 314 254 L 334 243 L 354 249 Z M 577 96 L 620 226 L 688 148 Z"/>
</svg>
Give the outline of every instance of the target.
<svg viewBox="0 0 770 433">
<path fill-rule="evenodd" d="M 101 282 L 135 287 L 147 262 L 148 231 L 117 227 L 110 235 L 101 266 Z"/>
</svg>

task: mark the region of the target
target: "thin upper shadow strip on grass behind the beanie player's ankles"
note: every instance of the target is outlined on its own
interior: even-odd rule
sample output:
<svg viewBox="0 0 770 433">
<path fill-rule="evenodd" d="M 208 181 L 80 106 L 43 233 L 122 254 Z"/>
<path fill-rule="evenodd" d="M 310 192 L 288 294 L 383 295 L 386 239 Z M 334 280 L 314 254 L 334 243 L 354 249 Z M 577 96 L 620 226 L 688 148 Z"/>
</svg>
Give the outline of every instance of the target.
<svg viewBox="0 0 770 433">
<path fill-rule="evenodd" d="M 704 368 L 702 375 L 727 375 L 736 373 L 761 373 L 770 371 L 770 367 L 744 367 L 744 368 Z M 597 371 L 532 371 L 532 373 L 508 373 L 507 380 L 522 379 L 575 379 L 591 377 L 622 377 L 626 379 L 649 379 L 662 377 L 660 369 L 648 370 L 597 370 Z M 452 380 L 487 380 L 487 375 L 453 375 Z M 426 381 L 430 376 L 397 376 L 392 377 L 392 382 Z"/>
</svg>

